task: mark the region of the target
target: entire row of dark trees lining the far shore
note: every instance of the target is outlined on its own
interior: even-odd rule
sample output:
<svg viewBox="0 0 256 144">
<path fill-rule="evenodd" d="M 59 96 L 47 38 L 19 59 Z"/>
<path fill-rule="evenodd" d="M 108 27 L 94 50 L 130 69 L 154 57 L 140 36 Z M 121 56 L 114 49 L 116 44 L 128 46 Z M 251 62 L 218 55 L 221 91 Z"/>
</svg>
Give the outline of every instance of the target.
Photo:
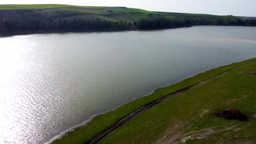
<svg viewBox="0 0 256 144">
<path fill-rule="evenodd" d="M 38 31 L 102 31 L 102 30 L 126 30 L 126 29 L 159 29 L 189 27 L 194 25 L 234 25 L 234 26 L 256 26 L 256 20 L 242 19 L 168 19 L 165 17 L 148 17 L 133 23 L 127 21 L 107 21 L 103 19 L 63 19 L 41 21 L 40 19 L 26 19 L 15 21 L 12 19 L 0 20 L 0 33 L 25 33 Z"/>
</svg>

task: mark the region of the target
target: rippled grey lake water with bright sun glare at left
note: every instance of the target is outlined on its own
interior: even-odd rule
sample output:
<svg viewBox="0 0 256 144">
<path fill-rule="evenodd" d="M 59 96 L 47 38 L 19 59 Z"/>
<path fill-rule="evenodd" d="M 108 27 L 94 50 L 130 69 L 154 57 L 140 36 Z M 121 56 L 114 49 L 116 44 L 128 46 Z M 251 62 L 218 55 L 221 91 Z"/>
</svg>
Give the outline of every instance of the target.
<svg viewBox="0 0 256 144">
<path fill-rule="evenodd" d="M 0 143 L 40 144 L 207 69 L 256 57 L 256 27 L 0 38 Z"/>
</svg>

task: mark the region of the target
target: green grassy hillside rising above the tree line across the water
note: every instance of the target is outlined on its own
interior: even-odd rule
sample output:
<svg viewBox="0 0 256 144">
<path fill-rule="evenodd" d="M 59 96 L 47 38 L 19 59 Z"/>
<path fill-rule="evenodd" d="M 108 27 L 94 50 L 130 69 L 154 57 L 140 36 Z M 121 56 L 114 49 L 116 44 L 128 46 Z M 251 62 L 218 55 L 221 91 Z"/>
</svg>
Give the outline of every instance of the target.
<svg viewBox="0 0 256 144">
<path fill-rule="evenodd" d="M 19 15 L 19 16 L 18 16 Z M 141 18 L 165 16 L 167 18 L 209 18 L 209 19 L 242 19 L 235 16 L 216 16 L 209 14 L 192 13 L 168 13 L 153 12 L 126 7 L 96 7 L 59 4 L 38 5 L 0 5 L 0 19 L 22 19 L 37 16 L 41 19 L 53 19 L 56 17 L 72 18 L 82 17 L 87 19 L 106 19 L 112 21 L 126 20 L 137 21 Z"/>
</svg>

